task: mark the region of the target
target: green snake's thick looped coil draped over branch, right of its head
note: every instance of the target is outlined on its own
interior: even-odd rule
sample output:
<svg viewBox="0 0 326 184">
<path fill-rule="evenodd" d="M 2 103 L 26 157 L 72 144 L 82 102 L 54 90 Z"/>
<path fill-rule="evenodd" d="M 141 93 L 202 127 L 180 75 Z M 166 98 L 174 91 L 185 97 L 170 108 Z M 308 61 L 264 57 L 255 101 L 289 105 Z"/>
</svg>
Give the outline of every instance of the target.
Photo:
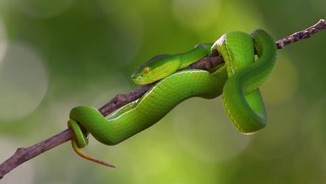
<svg viewBox="0 0 326 184">
<path fill-rule="evenodd" d="M 277 50 L 274 41 L 265 31 L 257 29 L 251 36 L 242 32 L 225 34 L 212 48 L 223 56 L 228 72 L 223 89 L 226 114 L 240 132 L 261 130 L 267 124 L 267 114 L 258 87 L 274 66 Z"/>
</svg>

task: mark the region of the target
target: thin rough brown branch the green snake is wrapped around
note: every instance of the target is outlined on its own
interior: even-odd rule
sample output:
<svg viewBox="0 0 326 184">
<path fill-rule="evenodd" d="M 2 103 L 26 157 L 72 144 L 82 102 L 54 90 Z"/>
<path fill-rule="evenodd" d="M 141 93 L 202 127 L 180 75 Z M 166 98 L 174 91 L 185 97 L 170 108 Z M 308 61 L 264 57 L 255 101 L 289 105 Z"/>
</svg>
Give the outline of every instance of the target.
<svg viewBox="0 0 326 184">
<path fill-rule="evenodd" d="M 304 29 L 303 31 L 293 33 L 286 38 L 278 40 L 275 44 L 277 45 L 277 49 L 283 49 L 286 45 L 295 43 L 298 40 L 310 38 L 313 33 L 317 33 L 323 29 L 326 29 L 326 20 L 320 20 L 317 24 Z M 185 69 L 200 68 L 203 70 L 209 70 L 210 68 L 213 68 L 214 66 L 217 66 L 221 63 L 224 63 L 223 58 L 218 56 L 217 52 L 213 52 L 209 57 L 205 57 Z M 127 94 L 118 94 L 98 110 L 103 114 L 103 116 L 107 116 L 111 112 L 114 112 L 116 109 L 123 107 L 123 105 L 126 105 L 127 103 L 140 98 L 141 95 L 146 93 L 146 91 L 148 91 L 148 89 L 150 89 L 150 87 L 153 85 L 154 84 L 141 86 L 139 89 L 135 89 L 134 91 Z M 44 153 L 45 151 L 48 151 L 55 146 L 59 146 L 60 144 L 63 144 L 65 141 L 69 141 L 72 138 L 75 138 L 75 135 L 72 133 L 72 130 L 68 128 L 63 130 L 63 132 L 54 135 L 53 137 L 49 137 L 49 139 L 41 141 L 38 144 L 28 148 L 18 148 L 17 151 L 10 158 L 8 158 L 8 160 L 0 164 L 0 179 L 3 178 L 3 176 L 5 176 L 8 172 L 15 169 L 15 167 L 26 162 L 27 160 L 31 160 L 37 155 L 40 155 L 41 153 Z"/>
</svg>

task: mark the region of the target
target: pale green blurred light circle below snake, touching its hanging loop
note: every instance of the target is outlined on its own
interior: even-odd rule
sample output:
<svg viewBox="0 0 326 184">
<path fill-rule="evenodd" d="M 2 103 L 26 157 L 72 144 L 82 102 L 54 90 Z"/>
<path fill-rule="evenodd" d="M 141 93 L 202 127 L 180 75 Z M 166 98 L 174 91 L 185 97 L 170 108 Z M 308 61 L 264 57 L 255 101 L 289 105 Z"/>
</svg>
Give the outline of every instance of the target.
<svg viewBox="0 0 326 184">
<path fill-rule="evenodd" d="M 222 98 L 190 99 L 173 109 L 173 126 L 180 144 L 205 162 L 234 158 L 251 140 L 232 125 L 224 111 Z"/>
</svg>

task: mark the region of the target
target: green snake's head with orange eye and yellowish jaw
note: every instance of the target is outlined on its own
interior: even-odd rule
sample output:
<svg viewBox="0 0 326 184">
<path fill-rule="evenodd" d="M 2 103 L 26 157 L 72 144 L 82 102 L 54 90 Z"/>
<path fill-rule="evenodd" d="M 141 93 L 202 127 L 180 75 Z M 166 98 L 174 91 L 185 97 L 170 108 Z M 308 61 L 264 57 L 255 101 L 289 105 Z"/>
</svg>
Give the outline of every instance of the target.
<svg viewBox="0 0 326 184">
<path fill-rule="evenodd" d="M 169 54 L 154 56 L 132 74 L 132 80 L 136 84 L 150 84 L 163 79 L 179 67 L 178 57 Z"/>
</svg>

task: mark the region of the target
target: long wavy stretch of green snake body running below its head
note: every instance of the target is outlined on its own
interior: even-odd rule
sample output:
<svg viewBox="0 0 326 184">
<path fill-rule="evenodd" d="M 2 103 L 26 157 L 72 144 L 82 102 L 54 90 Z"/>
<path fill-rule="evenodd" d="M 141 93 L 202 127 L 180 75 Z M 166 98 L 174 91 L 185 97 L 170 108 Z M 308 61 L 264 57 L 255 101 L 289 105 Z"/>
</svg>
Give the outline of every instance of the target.
<svg viewBox="0 0 326 184">
<path fill-rule="evenodd" d="M 220 79 L 223 79 L 222 82 Z M 115 145 L 154 125 L 187 98 L 194 96 L 216 98 L 222 94 L 226 79 L 226 72 L 217 75 L 212 75 L 205 70 L 176 72 L 153 86 L 137 102 L 122 107 L 108 118 L 104 118 L 93 107 L 79 106 L 71 110 L 70 119 L 81 123 L 101 143 Z M 180 82 L 180 80 L 185 81 Z M 189 86 L 196 87 L 189 89 Z M 162 95 L 162 93 L 170 95 Z"/>
</svg>

